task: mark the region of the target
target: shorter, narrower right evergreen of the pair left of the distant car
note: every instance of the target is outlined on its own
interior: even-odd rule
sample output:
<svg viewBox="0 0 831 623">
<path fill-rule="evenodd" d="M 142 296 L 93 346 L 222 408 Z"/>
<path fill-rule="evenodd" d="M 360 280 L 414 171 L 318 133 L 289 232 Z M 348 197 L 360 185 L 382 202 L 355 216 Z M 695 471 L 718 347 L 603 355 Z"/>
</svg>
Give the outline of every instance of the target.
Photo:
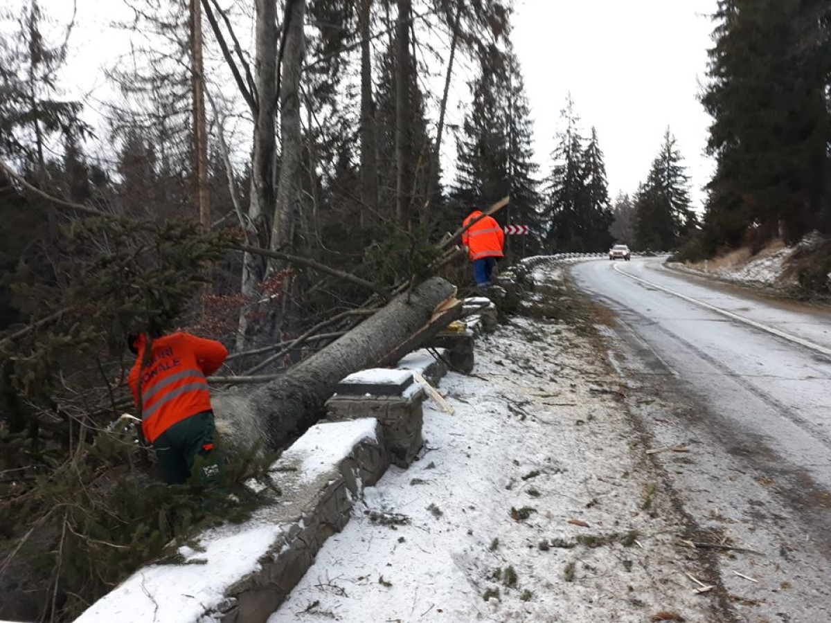
<svg viewBox="0 0 831 623">
<path fill-rule="evenodd" d="M 583 151 L 583 197 L 581 213 L 587 222 L 586 251 L 605 251 L 612 243 L 609 227 L 614 218 L 609 204 L 606 165 L 597 140 L 597 130 L 592 128 L 592 138 Z"/>
</svg>

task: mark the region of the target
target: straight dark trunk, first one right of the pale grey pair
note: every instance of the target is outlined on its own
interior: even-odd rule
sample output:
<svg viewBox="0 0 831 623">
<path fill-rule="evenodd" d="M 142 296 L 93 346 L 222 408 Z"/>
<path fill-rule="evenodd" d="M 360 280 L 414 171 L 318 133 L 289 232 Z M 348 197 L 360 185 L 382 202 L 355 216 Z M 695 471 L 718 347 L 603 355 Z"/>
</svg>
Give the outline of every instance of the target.
<svg viewBox="0 0 831 623">
<path fill-rule="evenodd" d="M 372 0 L 361 0 L 361 227 L 366 213 L 378 213 L 378 160 L 375 102 L 372 101 L 370 17 Z"/>
</svg>

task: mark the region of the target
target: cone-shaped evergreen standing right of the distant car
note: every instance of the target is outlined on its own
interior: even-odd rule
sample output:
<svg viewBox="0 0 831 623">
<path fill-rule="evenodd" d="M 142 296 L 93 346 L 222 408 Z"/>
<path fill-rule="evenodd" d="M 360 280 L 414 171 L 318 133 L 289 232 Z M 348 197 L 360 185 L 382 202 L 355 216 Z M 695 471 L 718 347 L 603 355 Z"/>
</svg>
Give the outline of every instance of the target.
<svg viewBox="0 0 831 623">
<path fill-rule="evenodd" d="M 637 191 L 637 248 L 674 249 L 697 226 L 690 208 L 689 176 L 669 128 L 647 181 Z"/>
</svg>

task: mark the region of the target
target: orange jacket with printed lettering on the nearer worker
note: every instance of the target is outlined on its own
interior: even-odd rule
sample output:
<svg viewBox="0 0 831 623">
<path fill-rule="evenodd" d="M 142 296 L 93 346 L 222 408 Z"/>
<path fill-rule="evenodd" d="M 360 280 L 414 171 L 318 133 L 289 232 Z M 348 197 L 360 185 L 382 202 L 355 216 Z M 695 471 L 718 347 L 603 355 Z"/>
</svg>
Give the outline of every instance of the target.
<svg viewBox="0 0 831 623">
<path fill-rule="evenodd" d="M 210 410 L 205 377 L 219 370 L 228 356 L 222 344 L 189 333 L 158 337 L 153 340 L 150 361 L 144 370 L 141 370 L 146 346 L 144 335 L 139 336 L 135 346 L 139 354 L 127 382 L 136 406 L 141 392 L 141 429 L 148 441 L 155 441 L 176 422 Z"/>
</svg>

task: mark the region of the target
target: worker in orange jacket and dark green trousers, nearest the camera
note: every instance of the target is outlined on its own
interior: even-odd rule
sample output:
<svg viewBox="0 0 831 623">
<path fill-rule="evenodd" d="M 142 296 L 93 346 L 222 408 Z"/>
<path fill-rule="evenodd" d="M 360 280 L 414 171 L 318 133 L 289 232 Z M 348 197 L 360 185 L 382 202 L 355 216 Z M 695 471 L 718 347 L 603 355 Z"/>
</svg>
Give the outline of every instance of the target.
<svg viewBox="0 0 831 623">
<path fill-rule="evenodd" d="M 214 449 L 214 411 L 205 377 L 219 370 L 228 350 L 189 333 L 155 337 L 148 348 L 147 336 L 127 336 L 135 354 L 127 382 L 165 480 L 180 484 L 190 477 L 196 457 L 208 459 Z"/>
</svg>

